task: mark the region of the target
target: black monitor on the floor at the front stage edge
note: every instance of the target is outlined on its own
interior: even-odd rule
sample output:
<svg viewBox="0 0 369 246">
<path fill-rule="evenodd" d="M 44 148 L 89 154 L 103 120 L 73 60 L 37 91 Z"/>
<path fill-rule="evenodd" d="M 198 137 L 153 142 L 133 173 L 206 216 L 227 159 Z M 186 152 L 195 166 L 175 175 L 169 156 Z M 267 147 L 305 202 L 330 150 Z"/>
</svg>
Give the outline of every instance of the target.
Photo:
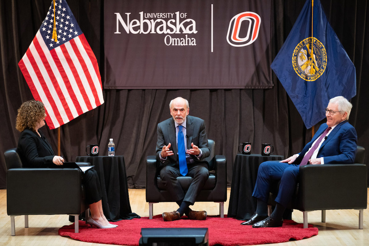
<svg viewBox="0 0 369 246">
<path fill-rule="evenodd" d="M 141 228 L 139 246 L 208 246 L 208 228 Z"/>
</svg>

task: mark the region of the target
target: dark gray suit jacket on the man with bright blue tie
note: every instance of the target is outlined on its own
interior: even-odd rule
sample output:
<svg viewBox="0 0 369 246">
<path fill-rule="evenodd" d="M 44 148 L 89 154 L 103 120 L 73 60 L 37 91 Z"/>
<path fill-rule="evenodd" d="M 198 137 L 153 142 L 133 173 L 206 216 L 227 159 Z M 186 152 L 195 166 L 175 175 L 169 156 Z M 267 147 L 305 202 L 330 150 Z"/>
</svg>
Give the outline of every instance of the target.
<svg viewBox="0 0 369 246">
<path fill-rule="evenodd" d="M 199 147 L 203 152 L 201 159 L 198 160 L 196 156 L 191 155 L 195 160 L 195 163 L 203 163 L 204 158 L 210 155 L 210 149 L 208 146 L 208 140 L 205 130 L 205 121 L 203 119 L 187 115 L 186 122 L 187 129 L 187 149 L 191 148 L 191 143 Z M 174 155 L 168 156 L 166 161 L 161 165 L 174 166 L 177 162 L 177 145 L 176 145 L 176 127 L 173 118 L 166 119 L 158 124 L 158 142 L 156 142 L 156 160 L 161 163 L 159 157 L 160 152 L 164 145 L 171 143 L 170 150 L 173 151 Z"/>
</svg>

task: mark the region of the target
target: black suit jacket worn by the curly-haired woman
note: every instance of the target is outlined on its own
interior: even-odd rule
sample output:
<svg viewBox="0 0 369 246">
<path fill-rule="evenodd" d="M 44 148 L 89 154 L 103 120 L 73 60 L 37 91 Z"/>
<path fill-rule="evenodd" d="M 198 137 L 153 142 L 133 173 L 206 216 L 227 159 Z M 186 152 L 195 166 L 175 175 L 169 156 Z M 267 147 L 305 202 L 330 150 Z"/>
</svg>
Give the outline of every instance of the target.
<svg viewBox="0 0 369 246">
<path fill-rule="evenodd" d="M 55 154 L 44 134 L 38 129 L 24 129 L 18 141 L 18 150 L 21 153 L 24 167 L 46 167 L 45 163 L 52 163 Z"/>
</svg>

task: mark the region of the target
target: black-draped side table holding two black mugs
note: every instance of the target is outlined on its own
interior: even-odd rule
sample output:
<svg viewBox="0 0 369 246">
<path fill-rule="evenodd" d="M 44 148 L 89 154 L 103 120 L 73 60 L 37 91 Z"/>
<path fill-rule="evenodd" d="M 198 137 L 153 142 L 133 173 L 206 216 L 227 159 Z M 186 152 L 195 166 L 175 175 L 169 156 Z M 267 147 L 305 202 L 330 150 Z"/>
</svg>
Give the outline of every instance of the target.
<svg viewBox="0 0 369 246">
<path fill-rule="evenodd" d="M 228 217 L 247 220 L 256 211 L 256 198 L 252 197 L 259 165 L 268 160 L 283 160 L 283 156 L 237 154 L 233 165 Z"/>
</svg>

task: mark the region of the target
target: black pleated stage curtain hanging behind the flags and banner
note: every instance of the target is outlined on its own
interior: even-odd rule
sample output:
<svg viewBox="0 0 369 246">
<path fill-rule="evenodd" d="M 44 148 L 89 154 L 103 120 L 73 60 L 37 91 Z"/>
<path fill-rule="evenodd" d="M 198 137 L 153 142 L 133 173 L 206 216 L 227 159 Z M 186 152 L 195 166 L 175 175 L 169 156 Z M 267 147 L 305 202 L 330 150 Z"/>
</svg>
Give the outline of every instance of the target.
<svg viewBox="0 0 369 246">
<path fill-rule="evenodd" d="M 369 16 L 367 0 L 321 0 L 328 20 L 354 62 L 357 94 L 349 122 L 358 132 L 358 145 L 369 149 L 368 114 L 369 84 Z M 304 0 L 273 2 L 273 58 L 289 34 Z M 69 7 L 84 32 L 104 77 L 103 1 L 68 1 Z M 17 109 L 32 99 L 18 61 L 30 45 L 46 16 L 50 0 L 0 2 L 0 153 L 17 146 L 15 130 Z M 104 83 L 104 82 L 103 82 Z M 217 90 L 104 90 L 106 103 L 61 127 L 61 153 L 68 161 L 85 155 L 85 147 L 100 144 L 100 155 L 107 155 L 108 139 L 115 142 L 116 155 L 124 155 L 128 184 L 145 187 L 145 158 L 155 154 L 156 125 L 167 119 L 169 101 L 177 96 L 190 102 L 190 114 L 206 121 L 208 138 L 216 142 L 216 153 L 227 157 L 228 185 L 232 179 L 238 143 L 252 142 L 252 153 L 261 153 L 262 143 L 271 143 L 275 154 L 298 153 L 311 139 L 311 129 L 303 121 L 273 74 L 273 89 Z M 323 123 L 324 121 L 322 121 Z M 318 125 L 317 125 L 318 127 Z M 317 128 L 316 127 L 316 128 Z M 42 131 L 57 149 L 57 130 Z M 368 161 L 368 155 L 365 162 Z M 0 155 L 0 188 L 6 187 L 6 167 Z"/>
</svg>

